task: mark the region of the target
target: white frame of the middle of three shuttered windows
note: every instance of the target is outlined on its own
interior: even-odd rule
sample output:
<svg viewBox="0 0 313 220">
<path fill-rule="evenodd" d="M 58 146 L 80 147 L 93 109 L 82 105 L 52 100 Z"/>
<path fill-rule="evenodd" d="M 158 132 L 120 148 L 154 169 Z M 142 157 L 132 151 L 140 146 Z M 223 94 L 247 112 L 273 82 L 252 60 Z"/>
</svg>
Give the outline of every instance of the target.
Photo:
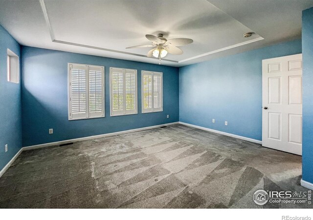
<svg viewBox="0 0 313 220">
<path fill-rule="evenodd" d="M 123 97 L 124 97 L 124 110 L 113 110 L 113 99 L 112 99 L 112 70 L 118 69 L 123 73 Z M 125 73 L 126 71 L 134 71 L 135 74 L 135 110 L 134 112 L 126 110 L 126 84 L 125 84 Z M 130 115 L 130 114 L 137 114 L 138 113 L 138 85 L 137 85 L 137 70 L 136 69 L 125 69 L 125 68 L 117 68 L 117 67 L 110 67 L 110 116 L 121 116 L 121 115 Z M 115 112 L 115 113 L 114 113 Z"/>
</svg>

